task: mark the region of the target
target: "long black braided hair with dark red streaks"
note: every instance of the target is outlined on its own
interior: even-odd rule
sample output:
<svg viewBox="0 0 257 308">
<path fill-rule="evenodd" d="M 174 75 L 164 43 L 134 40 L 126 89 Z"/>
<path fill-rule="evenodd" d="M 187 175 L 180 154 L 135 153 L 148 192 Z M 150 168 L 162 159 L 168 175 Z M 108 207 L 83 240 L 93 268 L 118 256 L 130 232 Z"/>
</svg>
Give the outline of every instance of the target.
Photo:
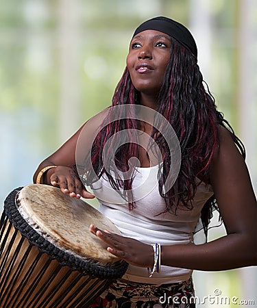
<svg viewBox="0 0 257 308">
<path fill-rule="evenodd" d="M 140 93 L 134 88 L 130 73 L 127 68 L 114 91 L 112 106 L 140 104 Z M 171 38 L 171 56 L 164 75 L 164 81 L 158 96 L 158 109 L 173 127 L 181 149 L 181 166 L 178 178 L 172 188 L 164 192 L 162 187 L 171 168 L 171 155 L 169 146 L 163 136 L 154 128 L 151 137 L 154 138 L 162 153 L 163 166 L 162 175 L 159 179 L 159 192 L 164 198 L 167 211 L 176 213 L 179 207 L 192 209 L 192 200 L 197 189 L 196 177 L 209 181 L 208 172 L 210 162 L 219 146 L 219 125 L 226 127 L 245 158 L 245 148 L 236 137 L 228 121 L 223 114 L 217 111 L 215 99 L 210 94 L 208 86 L 204 83 L 203 77 L 197 65 L 196 57 L 182 46 L 177 40 Z M 97 135 L 91 152 L 91 162 L 97 177 L 106 174 L 112 188 L 115 190 L 131 190 L 132 179 L 115 179 L 106 172 L 103 166 L 102 149 L 108 139 L 115 133 L 128 129 L 130 142 L 123 144 L 115 153 L 112 147 L 108 150 L 110 157 L 115 157 L 117 168 L 122 171 L 129 170 L 130 157 L 138 155 L 138 144 L 134 130 L 139 128 L 138 120 L 127 115 L 121 120 L 108 123 Z M 130 133 L 131 131 L 131 133 Z M 115 142 L 115 138 L 113 140 Z M 134 202 L 128 202 L 130 209 L 133 209 Z M 215 196 L 212 196 L 204 205 L 201 211 L 201 221 L 207 235 L 208 223 L 210 222 L 213 208 L 217 208 Z"/>
</svg>

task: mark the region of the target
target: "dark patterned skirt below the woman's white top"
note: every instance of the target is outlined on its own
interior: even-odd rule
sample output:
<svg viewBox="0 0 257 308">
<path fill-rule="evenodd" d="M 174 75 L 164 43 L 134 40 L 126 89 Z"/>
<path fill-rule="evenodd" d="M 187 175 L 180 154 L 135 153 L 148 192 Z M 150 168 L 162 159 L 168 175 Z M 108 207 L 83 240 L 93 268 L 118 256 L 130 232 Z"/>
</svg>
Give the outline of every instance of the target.
<svg viewBox="0 0 257 308">
<path fill-rule="evenodd" d="M 192 279 L 164 285 L 118 280 L 90 308 L 194 308 L 194 296 Z"/>
</svg>

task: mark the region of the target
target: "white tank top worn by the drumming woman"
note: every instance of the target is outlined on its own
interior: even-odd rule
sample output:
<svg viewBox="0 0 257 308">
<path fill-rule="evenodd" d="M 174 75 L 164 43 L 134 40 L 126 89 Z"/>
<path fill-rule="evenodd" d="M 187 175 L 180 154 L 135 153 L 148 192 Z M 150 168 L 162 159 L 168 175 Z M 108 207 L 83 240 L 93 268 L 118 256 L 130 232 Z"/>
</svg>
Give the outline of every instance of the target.
<svg viewBox="0 0 257 308">
<path fill-rule="evenodd" d="M 100 202 L 99 211 L 117 225 L 122 235 L 146 244 L 164 245 L 190 244 L 193 232 L 201 215 L 204 203 L 212 196 L 210 185 L 200 183 L 192 202 L 193 209 L 178 209 L 177 215 L 166 211 L 164 199 L 158 190 L 158 166 L 136 168 L 132 183 L 136 207 L 129 209 L 124 199 L 112 190 L 103 176 L 93 184 L 92 190 Z M 112 193 L 110 193 L 112 192 Z M 166 211 L 166 212 L 165 212 Z M 192 270 L 161 266 L 160 273 L 149 278 L 147 268 L 130 265 L 123 279 L 138 283 L 175 283 L 188 280 Z"/>
</svg>

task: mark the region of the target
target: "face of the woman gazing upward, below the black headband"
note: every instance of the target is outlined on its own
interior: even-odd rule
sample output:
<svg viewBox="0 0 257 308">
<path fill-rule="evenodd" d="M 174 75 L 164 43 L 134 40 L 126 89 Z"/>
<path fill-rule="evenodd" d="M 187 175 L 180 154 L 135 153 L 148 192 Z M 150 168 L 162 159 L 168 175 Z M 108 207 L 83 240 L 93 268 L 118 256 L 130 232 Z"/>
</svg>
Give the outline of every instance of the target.
<svg viewBox="0 0 257 308">
<path fill-rule="evenodd" d="M 157 96 L 171 55 L 171 38 L 155 30 L 136 34 L 130 43 L 127 68 L 139 92 Z"/>
</svg>

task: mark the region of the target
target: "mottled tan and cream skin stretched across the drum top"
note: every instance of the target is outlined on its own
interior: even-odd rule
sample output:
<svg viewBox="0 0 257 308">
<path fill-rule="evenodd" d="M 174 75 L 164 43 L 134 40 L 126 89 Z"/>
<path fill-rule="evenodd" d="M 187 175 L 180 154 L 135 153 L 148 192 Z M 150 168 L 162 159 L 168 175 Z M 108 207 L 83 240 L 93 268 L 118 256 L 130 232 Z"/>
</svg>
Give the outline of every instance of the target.
<svg viewBox="0 0 257 308">
<path fill-rule="evenodd" d="M 106 244 L 90 233 L 90 224 L 120 234 L 97 209 L 49 185 L 27 185 L 17 196 L 21 216 L 46 240 L 76 257 L 100 264 L 119 261 Z"/>
</svg>

